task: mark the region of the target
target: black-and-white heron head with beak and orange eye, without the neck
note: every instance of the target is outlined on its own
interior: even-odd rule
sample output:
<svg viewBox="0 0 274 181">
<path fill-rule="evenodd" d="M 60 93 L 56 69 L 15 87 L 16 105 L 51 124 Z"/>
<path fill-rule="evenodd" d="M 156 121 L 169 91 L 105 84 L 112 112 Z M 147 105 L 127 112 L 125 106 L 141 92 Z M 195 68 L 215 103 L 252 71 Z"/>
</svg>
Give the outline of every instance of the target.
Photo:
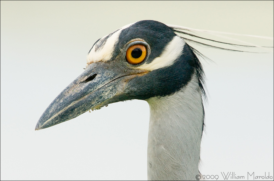
<svg viewBox="0 0 274 181">
<path fill-rule="evenodd" d="M 193 51 L 169 26 L 152 20 L 129 24 L 94 43 L 84 72 L 53 100 L 35 129 L 114 102 L 173 94 L 199 67 Z"/>
</svg>

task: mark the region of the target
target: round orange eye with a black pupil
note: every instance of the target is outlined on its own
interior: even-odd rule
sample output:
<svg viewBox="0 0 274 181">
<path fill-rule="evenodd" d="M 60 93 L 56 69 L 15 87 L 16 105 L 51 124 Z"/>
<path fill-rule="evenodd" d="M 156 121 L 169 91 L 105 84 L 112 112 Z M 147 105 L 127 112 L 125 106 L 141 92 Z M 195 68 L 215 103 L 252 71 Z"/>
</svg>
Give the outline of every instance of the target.
<svg viewBox="0 0 274 181">
<path fill-rule="evenodd" d="M 125 56 L 128 63 L 141 63 L 146 58 L 146 46 L 141 44 L 132 45 L 128 48 Z"/>
</svg>

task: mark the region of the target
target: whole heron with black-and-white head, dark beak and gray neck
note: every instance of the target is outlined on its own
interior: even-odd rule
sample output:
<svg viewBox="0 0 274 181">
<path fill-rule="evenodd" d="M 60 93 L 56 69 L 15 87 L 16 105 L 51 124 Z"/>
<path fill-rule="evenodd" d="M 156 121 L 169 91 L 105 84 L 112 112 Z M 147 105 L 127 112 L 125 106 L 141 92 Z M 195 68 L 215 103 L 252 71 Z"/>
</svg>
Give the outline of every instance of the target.
<svg viewBox="0 0 274 181">
<path fill-rule="evenodd" d="M 174 27 L 144 20 L 94 43 L 85 71 L 40 117 L 36 130 L 131 99 L 150 107 L 149 180 L 194 180 L 204 125 L 203 69 Z"/>
</svg>

